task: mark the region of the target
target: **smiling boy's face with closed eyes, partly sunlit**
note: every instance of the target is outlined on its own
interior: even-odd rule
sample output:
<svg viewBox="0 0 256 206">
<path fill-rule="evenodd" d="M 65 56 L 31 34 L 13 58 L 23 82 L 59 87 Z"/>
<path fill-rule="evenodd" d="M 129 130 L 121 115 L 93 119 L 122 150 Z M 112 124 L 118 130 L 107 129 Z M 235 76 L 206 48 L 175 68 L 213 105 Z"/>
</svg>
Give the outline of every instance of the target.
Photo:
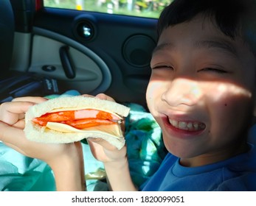
<svg viewBox="0 0 256 206">
<path fill-rule="evenodd" d="M 148 108 L 169 152 L 199 166 L 243 151 L 255 98 L 255 57 L 243 40 L 198 15 L 162 32 L 151 68 Z"/>
</svg>

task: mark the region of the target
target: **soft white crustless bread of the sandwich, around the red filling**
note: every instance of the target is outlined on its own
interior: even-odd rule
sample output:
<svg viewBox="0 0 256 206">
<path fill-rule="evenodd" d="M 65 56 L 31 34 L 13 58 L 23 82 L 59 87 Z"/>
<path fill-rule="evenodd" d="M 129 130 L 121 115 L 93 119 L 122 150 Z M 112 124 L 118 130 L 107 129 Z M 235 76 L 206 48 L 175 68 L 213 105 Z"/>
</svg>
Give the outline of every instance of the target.
<svg viewBox="0 0 256 206">
<path fill-rule="evenodd" d="M 125 138 L 122 135 L 120 124 L 91 127 L 90 129 L 86 129 L 86 132 L 60 132 L 47 127 L 41 127 L 32 122 L 32 119 L 35 117 L 39 117 L 51 110 L 63 108 L 98 109 L 110 113 L 117 113 L 119 116 L 123 117 L 128 116 L 130 111 L 129 107 L 125 107 L 117 102 L 96 99 L 94 97 L 68 96 L 50 99 L 30 107 L 27 111 L 24 128 L 27 139 L 41 143 L 72 143 L 84 138 L 103 138 L 105 141 L 116 146 L 117 149 L 121 149 L 122 146 L 125 145 Z M 117 135 L 119 135 L 119 137 L 117 137 Z"/>
</svg>

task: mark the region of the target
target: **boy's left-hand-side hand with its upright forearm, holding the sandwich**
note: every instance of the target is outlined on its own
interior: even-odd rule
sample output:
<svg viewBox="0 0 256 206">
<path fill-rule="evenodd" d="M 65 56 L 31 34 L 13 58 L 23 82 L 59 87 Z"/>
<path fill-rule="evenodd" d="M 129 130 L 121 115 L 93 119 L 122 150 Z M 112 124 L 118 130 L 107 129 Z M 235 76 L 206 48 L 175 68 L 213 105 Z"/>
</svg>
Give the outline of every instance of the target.
<svg viewBox="0 0 256 206">
<path fill-rule="evenodd" d="M 85 191 L 83 149 L 80 142 L 37 143 L 24 135 L 24 115 L 41 97 L 22 97 L 0 105 L 0 141 L 27 157 L 45 161 L 55 174 L 58 191 Z"/>
</svg>

